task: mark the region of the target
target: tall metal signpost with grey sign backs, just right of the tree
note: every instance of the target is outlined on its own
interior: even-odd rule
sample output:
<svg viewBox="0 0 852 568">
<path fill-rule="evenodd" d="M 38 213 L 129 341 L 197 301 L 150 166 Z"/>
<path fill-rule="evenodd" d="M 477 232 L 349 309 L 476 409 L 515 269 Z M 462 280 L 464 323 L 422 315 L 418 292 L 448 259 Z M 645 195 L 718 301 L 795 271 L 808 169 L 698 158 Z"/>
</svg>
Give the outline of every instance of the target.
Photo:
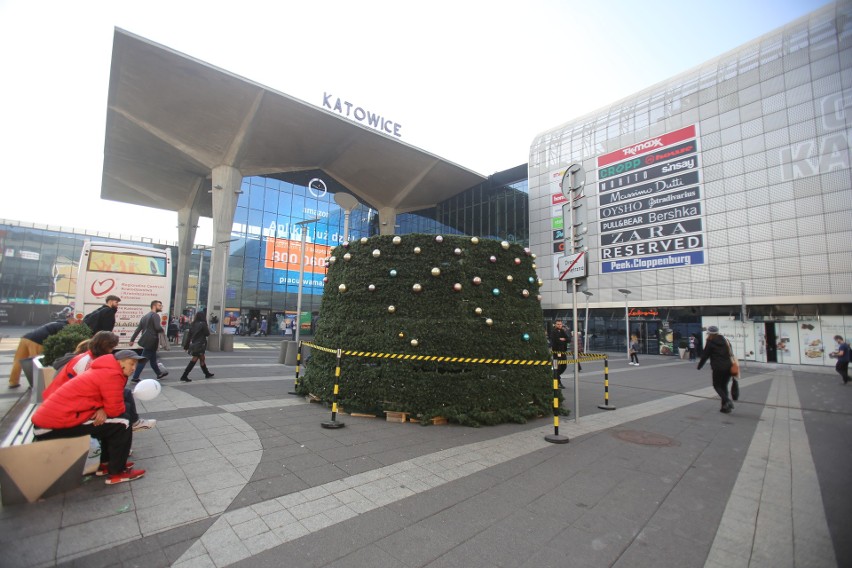
<svg viewBox="0 0 852 568">
<path fill-rule="evenodd" d="M 583 208 L 585 195 L 583 189 L 586 187 L 586 172 L 583 166 L 573 163 L 565 170 L 562 176 L 562 195 L 568 199 L 568 203 L 562 206 L 562 221 L 565 234 L 565 256 L 560 257 L 557 262 L 560 280 L 570 280 L 568 291 L 571 292 L 573 303 L 573 345 L 574 345 L 574 422 L 580 418 L 580 368 L 579 358 L 579 336 L 577 334 L 577 286 L 578 280 L 586 277 L 586 252 L 589 250 L 583 244 L 586 231 L 586 215 Z"/>
</svg>

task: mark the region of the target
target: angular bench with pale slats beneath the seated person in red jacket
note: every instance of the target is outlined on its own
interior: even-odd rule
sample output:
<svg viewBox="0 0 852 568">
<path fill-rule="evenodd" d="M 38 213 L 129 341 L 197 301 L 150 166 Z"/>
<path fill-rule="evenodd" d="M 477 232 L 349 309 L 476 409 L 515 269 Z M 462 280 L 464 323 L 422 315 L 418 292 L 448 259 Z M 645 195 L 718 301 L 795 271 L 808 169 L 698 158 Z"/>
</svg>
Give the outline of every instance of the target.
<svg viewBox="0 0 852 568">
<path fill-rule="evenodd" d="M 26 373 L 26 369 L 24 370 Z M 45 379 L 53 369 L 41 365 L 41 357 L 32 360 L 27 373 L 32 389 L 12 430 L 0 442 L 0 500 L 3 505 L 32 503 L 73 489 L 82 483 L 89 436 L 44 440 L 33 443 L 32 415 L 42 402 Z M 23 399 L 22 399 L 23 400 Z"/>
</svg>

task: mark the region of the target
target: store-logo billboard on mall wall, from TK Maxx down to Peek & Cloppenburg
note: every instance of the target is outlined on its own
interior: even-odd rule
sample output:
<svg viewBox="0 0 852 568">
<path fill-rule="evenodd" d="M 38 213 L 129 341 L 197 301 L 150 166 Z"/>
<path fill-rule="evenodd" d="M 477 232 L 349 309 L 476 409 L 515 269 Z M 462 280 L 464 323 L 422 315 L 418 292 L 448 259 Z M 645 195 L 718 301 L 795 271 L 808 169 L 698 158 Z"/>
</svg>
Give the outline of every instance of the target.
<svg viewBox="0 0 852 568">
<path fill-rule="evenodd" d="M 697 128 L 597 158 L 601 273 L 704 264 Z"/>
</svg>

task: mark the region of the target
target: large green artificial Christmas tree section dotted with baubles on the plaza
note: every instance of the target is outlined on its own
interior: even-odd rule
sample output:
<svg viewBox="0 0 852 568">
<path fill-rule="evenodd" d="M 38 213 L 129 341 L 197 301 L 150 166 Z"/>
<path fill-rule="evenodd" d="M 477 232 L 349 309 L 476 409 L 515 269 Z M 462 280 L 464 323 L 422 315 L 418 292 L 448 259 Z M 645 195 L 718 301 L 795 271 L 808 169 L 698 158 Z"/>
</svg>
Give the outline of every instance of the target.
<svg viewBox="0 0 852 568">
<path fill-rule="evenodd" d="M 336 247 L 300 394 L 333 400 L 341 349 L 338 403 L 348 411 L 474 426 L 552 414 L 534 260 L 518 245 L 461 236 Z"/>
</svg>

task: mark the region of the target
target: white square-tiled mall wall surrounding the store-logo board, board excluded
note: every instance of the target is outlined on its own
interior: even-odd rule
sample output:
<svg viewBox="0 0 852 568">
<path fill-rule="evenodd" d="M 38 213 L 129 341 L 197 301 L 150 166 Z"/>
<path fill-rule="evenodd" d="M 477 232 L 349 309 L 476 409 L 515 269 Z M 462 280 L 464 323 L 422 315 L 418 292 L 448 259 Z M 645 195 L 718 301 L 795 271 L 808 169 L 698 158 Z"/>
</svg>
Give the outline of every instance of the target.
<svg viewBox="0 0 852 568">
<path fill-rule="evenodd" d="M 664 101 L 665 118 L 659 115 Z M 656 105 L 656 110 L 655 110 Z M 602 274 L 596 157 L 695 124 L 705 265 Z M 636 128 L 636 126 L 641 128 Z M 543 307 L 553 278 L 553 172 L 587 172 L 593 306 L 852 302 L 852 3 L 829 5 L 738 50 L 538 136 L 530 150 L 531 247 Z M 581 297 L 582 299 L 582 297 Z"/>
</svg>

